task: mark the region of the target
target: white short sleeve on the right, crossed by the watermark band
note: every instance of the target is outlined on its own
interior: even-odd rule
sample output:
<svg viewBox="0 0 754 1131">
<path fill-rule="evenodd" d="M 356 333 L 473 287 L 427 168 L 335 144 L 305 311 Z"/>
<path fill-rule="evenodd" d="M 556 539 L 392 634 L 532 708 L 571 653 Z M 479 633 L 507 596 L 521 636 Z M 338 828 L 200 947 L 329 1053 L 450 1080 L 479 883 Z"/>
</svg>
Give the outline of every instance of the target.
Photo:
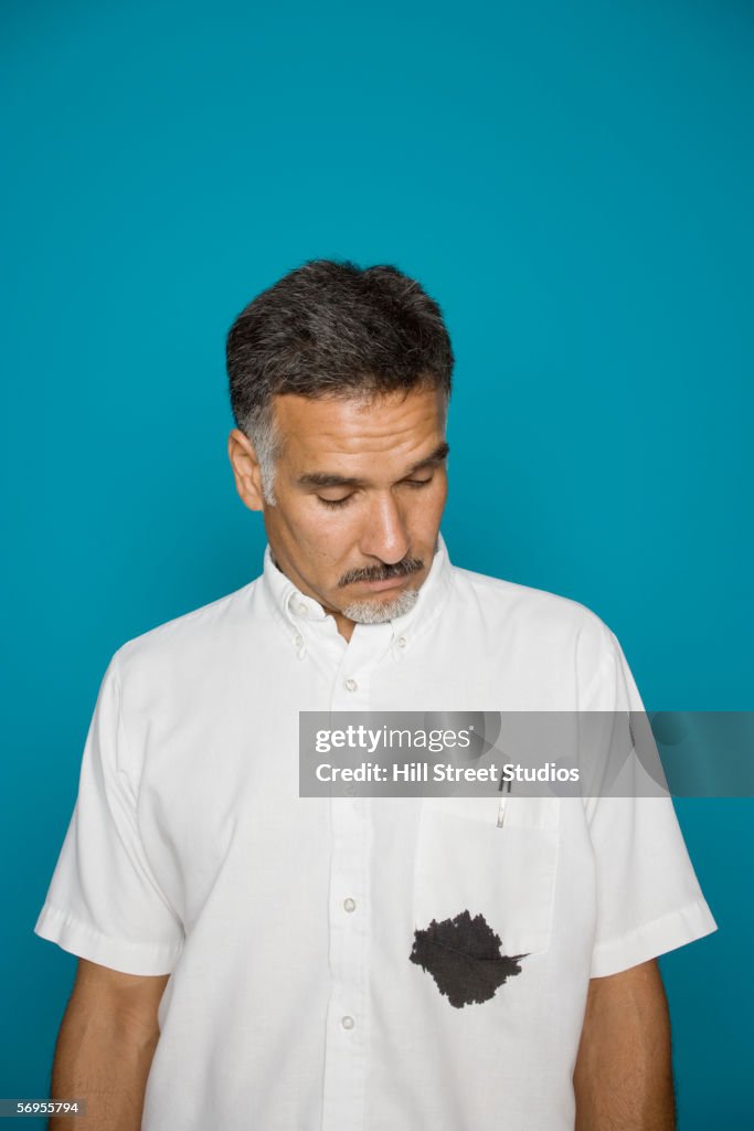
<svg viewBox="0 0 754 1131">
<path fill-rule="evenodd" d="M 609 630 L 584 709 L 643 711 Z M 617 974 L 717 930 L 669 796 L 586 801 L 597 884 L 591 977 Z"/>
</svg>

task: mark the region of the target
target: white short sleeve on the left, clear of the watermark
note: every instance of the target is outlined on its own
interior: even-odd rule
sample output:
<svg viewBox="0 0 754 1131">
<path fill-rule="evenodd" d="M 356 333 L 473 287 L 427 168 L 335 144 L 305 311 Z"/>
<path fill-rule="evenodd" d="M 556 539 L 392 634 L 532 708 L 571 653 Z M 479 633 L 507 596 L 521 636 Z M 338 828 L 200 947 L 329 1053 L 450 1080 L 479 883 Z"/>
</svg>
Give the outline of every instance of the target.
<svg viewBox="0 0 754 1131">
<path fill-rule="evenodd" d="M 116 657 L 99 687 L 73 813 L 34 931 L 125 974 L 168 974 L 184 933 L 139 835 Z"/>
</svg>

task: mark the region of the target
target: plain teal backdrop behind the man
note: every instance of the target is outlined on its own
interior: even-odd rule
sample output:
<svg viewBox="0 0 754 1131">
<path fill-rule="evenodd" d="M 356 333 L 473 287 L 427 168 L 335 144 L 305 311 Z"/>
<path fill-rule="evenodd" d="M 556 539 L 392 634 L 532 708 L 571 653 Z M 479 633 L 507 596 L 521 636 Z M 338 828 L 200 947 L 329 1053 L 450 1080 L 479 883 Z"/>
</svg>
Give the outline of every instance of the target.
<svg viewBox="0 0 754 1131">
<path fill-rule="evenodd" d="M 392 262 L 441 302 L 457 564 L 595 610 L 650 709 L 754 708 L 754 14 L 6 0 L 1 20 L 0 1095 L 42 1097 L 76 960 L 32 927 L 99 679 L 260 569 L 224 335 L 303 260 Z M 738 1129 L 752 802 L 677 811 L 720 925 L 661 964 L 679 1125 Z"/>
</svg>

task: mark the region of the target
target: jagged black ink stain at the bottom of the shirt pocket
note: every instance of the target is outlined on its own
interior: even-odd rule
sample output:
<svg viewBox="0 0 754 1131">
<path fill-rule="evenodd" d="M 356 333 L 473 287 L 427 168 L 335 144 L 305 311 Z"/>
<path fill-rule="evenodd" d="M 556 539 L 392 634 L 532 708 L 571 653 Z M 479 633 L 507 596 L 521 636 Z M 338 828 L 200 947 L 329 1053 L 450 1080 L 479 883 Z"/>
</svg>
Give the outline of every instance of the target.
<svg viewBox="0 0 754 1131">
<path fill-rule="evenodd" d="M 451 1005 L 489 1001 L 508 978 L 521 973 L 518 965 L 527 955 L 501 955 L 500 935 L 484 915 L 471 918 L 461 912 L 453 920 L 432 920 L 426 931 L 414 932 L 410 960 L 431 974 L 437 990 Z"/>
</svg>

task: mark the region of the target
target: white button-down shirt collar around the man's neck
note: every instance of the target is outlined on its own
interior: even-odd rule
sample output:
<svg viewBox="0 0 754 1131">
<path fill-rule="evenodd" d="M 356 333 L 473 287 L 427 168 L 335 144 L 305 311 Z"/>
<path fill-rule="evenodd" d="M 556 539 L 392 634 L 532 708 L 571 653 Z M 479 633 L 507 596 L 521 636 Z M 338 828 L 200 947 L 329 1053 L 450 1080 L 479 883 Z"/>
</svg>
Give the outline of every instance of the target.
<svg viewBox="0 0 754 1131">
<path fill-rule="evenodd" d="M 389 622 L 393 640 L 398 641 L 399 647 L 406 647 L 410 639 L 419 631 L 424 631 L 439 614 L 450 592 L 451 577 L 452 566 L 448 547 L 442 534 L 437 532 L 437 549 L 414 607 Z M 272 561 L 269 543 L 265 547 L 261 584 L 270 605 L 288 633 L 293 633 L 294 641 L 301 640 L 298 647 L 303 645 L 306 628 L 317 634 L 343 640 L 335 618 L 327 613 L 318 601 L 302 593 L 291 578 L 278 569 Z"/>
</svg>

